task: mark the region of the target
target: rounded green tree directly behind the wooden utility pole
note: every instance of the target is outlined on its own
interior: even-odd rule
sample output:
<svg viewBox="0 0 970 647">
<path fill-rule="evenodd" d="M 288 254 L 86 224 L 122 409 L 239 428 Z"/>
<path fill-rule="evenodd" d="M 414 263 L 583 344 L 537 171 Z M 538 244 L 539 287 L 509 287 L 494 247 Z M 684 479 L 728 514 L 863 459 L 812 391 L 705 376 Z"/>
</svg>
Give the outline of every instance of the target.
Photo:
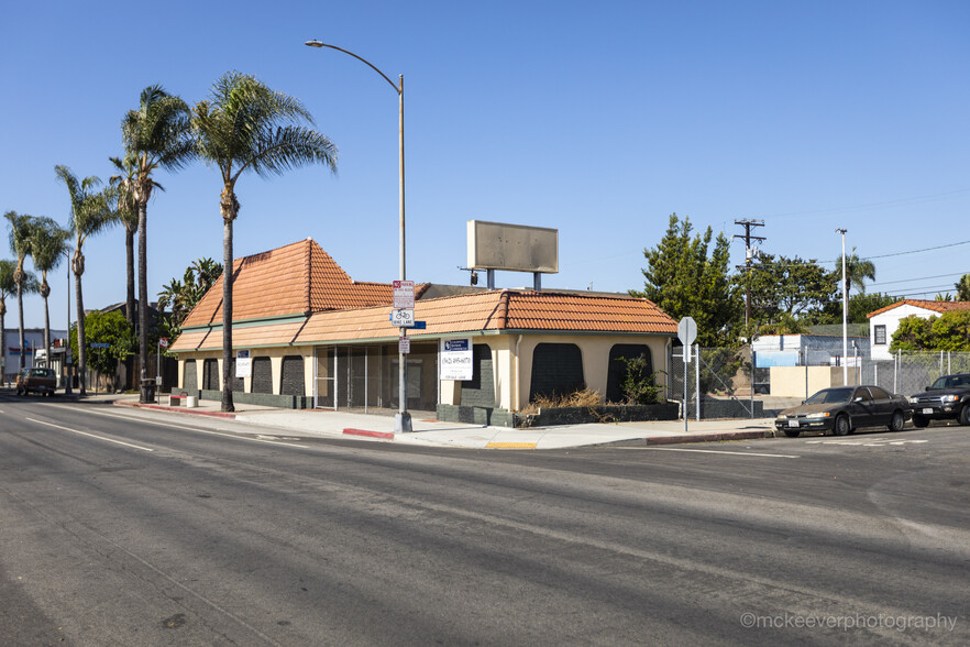
<svg viewBox="0 0 970 647">
<path fill-rule="evenodd" d="M 794 333 L 802 319 L 822 310 L 836 292 L 836 276 L 814 259 L 762 254 L 761 262 L 738 277 L 750 289 L 751 320 L 762 335 Z"/>
</svg>

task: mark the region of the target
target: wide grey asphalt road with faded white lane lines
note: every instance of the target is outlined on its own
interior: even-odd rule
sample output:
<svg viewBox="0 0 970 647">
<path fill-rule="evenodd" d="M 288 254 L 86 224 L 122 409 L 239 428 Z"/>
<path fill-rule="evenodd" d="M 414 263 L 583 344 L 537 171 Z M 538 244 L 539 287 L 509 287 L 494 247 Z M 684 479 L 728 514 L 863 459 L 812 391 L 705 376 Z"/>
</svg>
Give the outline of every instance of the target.
<svg viewBox="0 0 970 647">
<path fill-rule="evenodd" d="M 214 425 L 0 396 L 4 645 L 970 643 L 968 428 L 494 451 Z"/>
</svg>

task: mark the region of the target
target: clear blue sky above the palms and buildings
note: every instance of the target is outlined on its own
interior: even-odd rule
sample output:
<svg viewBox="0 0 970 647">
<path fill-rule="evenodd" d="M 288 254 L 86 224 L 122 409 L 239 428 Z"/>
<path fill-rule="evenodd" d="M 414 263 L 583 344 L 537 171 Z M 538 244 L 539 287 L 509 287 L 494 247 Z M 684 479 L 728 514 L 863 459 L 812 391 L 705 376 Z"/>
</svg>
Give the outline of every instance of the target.
<svg viewBox="0 0 970 647">
<path fill-rule="evenodd" d="M 877 265 L 870 292 L 932 298 L 970 272 L 970 244 L 900 254 L 970 241 L 962 0 L 54 0 L 8 3 L 0 29 L 4 212 L 66 222 L 55 164 L 107 179 L 142 88 L 191 103 L 238 69 L 301 99 L 341 154 L 335 176 L 243 177 L 236 256 L 312 237 L 354 278 L 395 278 L 397 97 L 360 62 L 304 46 L 319 39 L 405 75 L 409 278 L 465 283 L 465 221 L 480 219 L 559 229 L 560 273 L 543 286 L 639 288 L 643 248 L 674 211 L 728 235 L 763 219 L 764 251 L 826 262 L 847 228 Z M 157 179 L 153 295 L 222 254 L 217 172 Z M 86 254 L 85 305 L 123 300 L 123 231 Z M 25 311 L 43 325 L 40 297 Z"/>
</svg>

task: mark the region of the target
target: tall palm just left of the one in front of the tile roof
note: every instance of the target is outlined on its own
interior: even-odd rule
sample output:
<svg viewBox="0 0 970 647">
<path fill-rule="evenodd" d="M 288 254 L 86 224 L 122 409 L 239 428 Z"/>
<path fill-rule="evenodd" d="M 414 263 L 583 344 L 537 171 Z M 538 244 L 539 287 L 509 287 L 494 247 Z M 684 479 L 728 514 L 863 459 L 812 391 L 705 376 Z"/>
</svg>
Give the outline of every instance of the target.
<svg viewBox="0 0 970 647">
<path fill-rule="evenodd" d="M 139 362 L 142 384 L 148 376 L 148 198 L 158 185 L 152 177 L 159 167 L 175 171 L 196 156 L 188 105 L 162 86 L 142 90 L 137 110 L 129 110 L 121 121 L 124 147 L 135 156 L 133 189 L 139 213 Z M 141 402 L 150 402 L 141 390 Z"/>
</svg>

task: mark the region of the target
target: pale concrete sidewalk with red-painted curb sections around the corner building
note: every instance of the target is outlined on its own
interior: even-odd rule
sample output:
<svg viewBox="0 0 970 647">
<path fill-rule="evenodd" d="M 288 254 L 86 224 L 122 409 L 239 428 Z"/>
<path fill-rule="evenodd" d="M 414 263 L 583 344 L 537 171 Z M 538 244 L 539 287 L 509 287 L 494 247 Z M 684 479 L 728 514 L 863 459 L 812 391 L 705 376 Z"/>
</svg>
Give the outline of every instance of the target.
<svg viewBox="0 0 970 647">
<path fill-rule="evenodd" d="M 688 421 L 688 430 L 685 434 L 683 420 L 512 429 L 441 423 L 419 419 L 418 416 L 412 419 L 414 431 L 395 434 L 394 418 L 384 415 L 323 409 L 291 410 L 246 404 L 236 404 L 235 413 L 223 414 L 219 410 L 220 403 L 214 401 L 201 401 L 197 408 L 189 409 L 183 406 L 140 405 L 136 395 L 99 396 L 97 399 L 172 415 L 231 419 L 244 424 L 239 427 L 242 432 L 249 432 L 246 427 L 252 427 L 253 434 L 263 435 L 344 437 L 470 449 L 562 449 L 614 443 L 672 445 L 774 436 L 773 418 Z"/>
</svg>

